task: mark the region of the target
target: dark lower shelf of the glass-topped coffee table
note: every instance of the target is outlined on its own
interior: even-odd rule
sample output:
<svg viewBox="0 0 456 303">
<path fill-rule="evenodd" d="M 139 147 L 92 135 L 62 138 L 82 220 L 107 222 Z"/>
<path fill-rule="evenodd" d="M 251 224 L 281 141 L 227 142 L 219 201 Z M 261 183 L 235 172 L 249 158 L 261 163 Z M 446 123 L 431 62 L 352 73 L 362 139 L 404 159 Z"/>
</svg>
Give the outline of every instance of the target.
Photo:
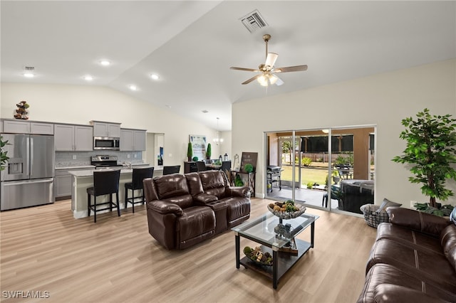
<svg viewBox="0 0 456 303">
<path fill-rule="evenodd" d="M 304 240 L 296 240 L 296 248 L 298 249 L 298 255 L 294 255 L 289 252 L 281 252 L 277 253 L 278 261 L 277 261 L 277 281 L 291 268 L 293 265 L 312 247 L 311 243 L 306 242 Z M 273 255 L 273 251 L 271 248 L 261 245 L 261 251 L 269 252 Z M 240 264 L 244 266 L 246 269 L 254 270 L 255 272 L 260 273 L 261 275 L 265 275 L 269 277 L 269 279 L 273 280 L 273 267 L 267 265 L 259 265 L 256 262 L 250 260 L 248 257 L 243 257 L 239 260 Z M 276 288 L 276 287 L 274 287 Z"/>
</svg>

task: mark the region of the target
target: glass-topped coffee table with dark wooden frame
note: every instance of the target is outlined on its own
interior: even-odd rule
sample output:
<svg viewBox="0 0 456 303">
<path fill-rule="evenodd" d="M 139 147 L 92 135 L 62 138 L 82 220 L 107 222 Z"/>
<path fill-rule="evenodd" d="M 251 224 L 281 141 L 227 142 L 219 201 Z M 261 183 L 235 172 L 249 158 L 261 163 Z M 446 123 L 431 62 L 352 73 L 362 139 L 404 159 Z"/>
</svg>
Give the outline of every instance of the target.
<svg viewBox="0 0 456 303">
<path fill-rule="evenodd" d="M 310 249 L 314 247 L 315 221 L 319 216 L 304 213 L 303 215 L 285 220 L 272 213 L 252 221 L 237 225 L 232 230 L 236 242 L 236 268 L 245 268 L 266 275 L 272 280 L 272 287 L 277 288 L 279 279 Z M 311 242 L 296 239 L 303 230 L 311 226 Z M 261 244 L 262 252 L 272 255 L 272 266 L 261 265 L 249 257 L 241 259 L 240 237 Z"/>
</svg>

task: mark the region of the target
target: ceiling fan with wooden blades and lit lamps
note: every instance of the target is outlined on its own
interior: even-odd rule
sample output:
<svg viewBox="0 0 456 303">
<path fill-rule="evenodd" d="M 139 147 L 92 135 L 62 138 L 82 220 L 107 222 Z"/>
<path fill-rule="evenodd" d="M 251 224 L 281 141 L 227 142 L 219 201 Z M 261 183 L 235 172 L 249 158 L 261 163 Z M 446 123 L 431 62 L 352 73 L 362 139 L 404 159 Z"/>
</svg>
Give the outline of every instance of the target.
<svg viewBox="0 0 456 303">
<path fill-rule="evenodd" d="M 286 68 L 275 68 L 274 64 L 276 63 L 277 57 L 279 57 L 279 55 L 276 53 L 268 53 L 269 39 L 271 39 L 271 35 L 269 35 L 268 33 L 263 35 L 263 40 L 266 43 L 266 61 L 264 63 L 261 63 L 258 66 L 257 70 L 253 68 L 236 68 L 234 66 L 231 67 L 232 70 L 246 70 L 248 72 L 259 73 L 258 75 L 255 75 L 254 77 L 250 78 L 249 80 L 245 80 L 242 84 L 249 84 L 253 80 L 257 80 L 261 86 L 268 86 L 269 84 L 282 85 L 284 84 L 284 81 L 277 77 L 276 73 L 289 73 L 307 70 L 307 65 L 296 65 L 289 66 Z"/>
</svg>

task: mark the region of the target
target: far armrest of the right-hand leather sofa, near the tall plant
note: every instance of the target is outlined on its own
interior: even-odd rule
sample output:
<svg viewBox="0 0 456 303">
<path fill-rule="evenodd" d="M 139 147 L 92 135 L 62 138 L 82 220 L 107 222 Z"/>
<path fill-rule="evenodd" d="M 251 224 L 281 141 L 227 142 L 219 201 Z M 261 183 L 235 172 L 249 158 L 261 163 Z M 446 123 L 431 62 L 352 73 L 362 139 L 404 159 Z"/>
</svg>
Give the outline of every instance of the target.
<svg viewBox="0 0 456 303">
<path fill-rule="evenodd" d="M 435 237 L 440 236 L 442 230 L 450 224 L 450 220 L 445 218 L 409 208 L 388 207 L 386 211 L 390 217 L 390 223 Z"/>
</svg>

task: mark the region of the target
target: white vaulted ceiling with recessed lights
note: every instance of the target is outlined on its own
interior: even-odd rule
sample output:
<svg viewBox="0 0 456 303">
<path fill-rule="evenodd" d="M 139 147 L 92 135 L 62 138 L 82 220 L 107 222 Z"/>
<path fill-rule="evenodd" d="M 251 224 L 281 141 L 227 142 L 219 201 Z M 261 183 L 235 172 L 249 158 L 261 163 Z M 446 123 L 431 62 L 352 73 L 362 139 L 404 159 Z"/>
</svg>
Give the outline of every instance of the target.
<svg viewBox="0 0 456 303">
<path fill-rule="evenodd" d="M 229 67 L 263 63 L 264 33 L 276 66 L 309 70 L 241 85 L 254 73 Z M 1 1 L 1 82 L 105 85 L 220 130 L 234 102 L 455 57 L 456 1 Z"/>
</svg>

